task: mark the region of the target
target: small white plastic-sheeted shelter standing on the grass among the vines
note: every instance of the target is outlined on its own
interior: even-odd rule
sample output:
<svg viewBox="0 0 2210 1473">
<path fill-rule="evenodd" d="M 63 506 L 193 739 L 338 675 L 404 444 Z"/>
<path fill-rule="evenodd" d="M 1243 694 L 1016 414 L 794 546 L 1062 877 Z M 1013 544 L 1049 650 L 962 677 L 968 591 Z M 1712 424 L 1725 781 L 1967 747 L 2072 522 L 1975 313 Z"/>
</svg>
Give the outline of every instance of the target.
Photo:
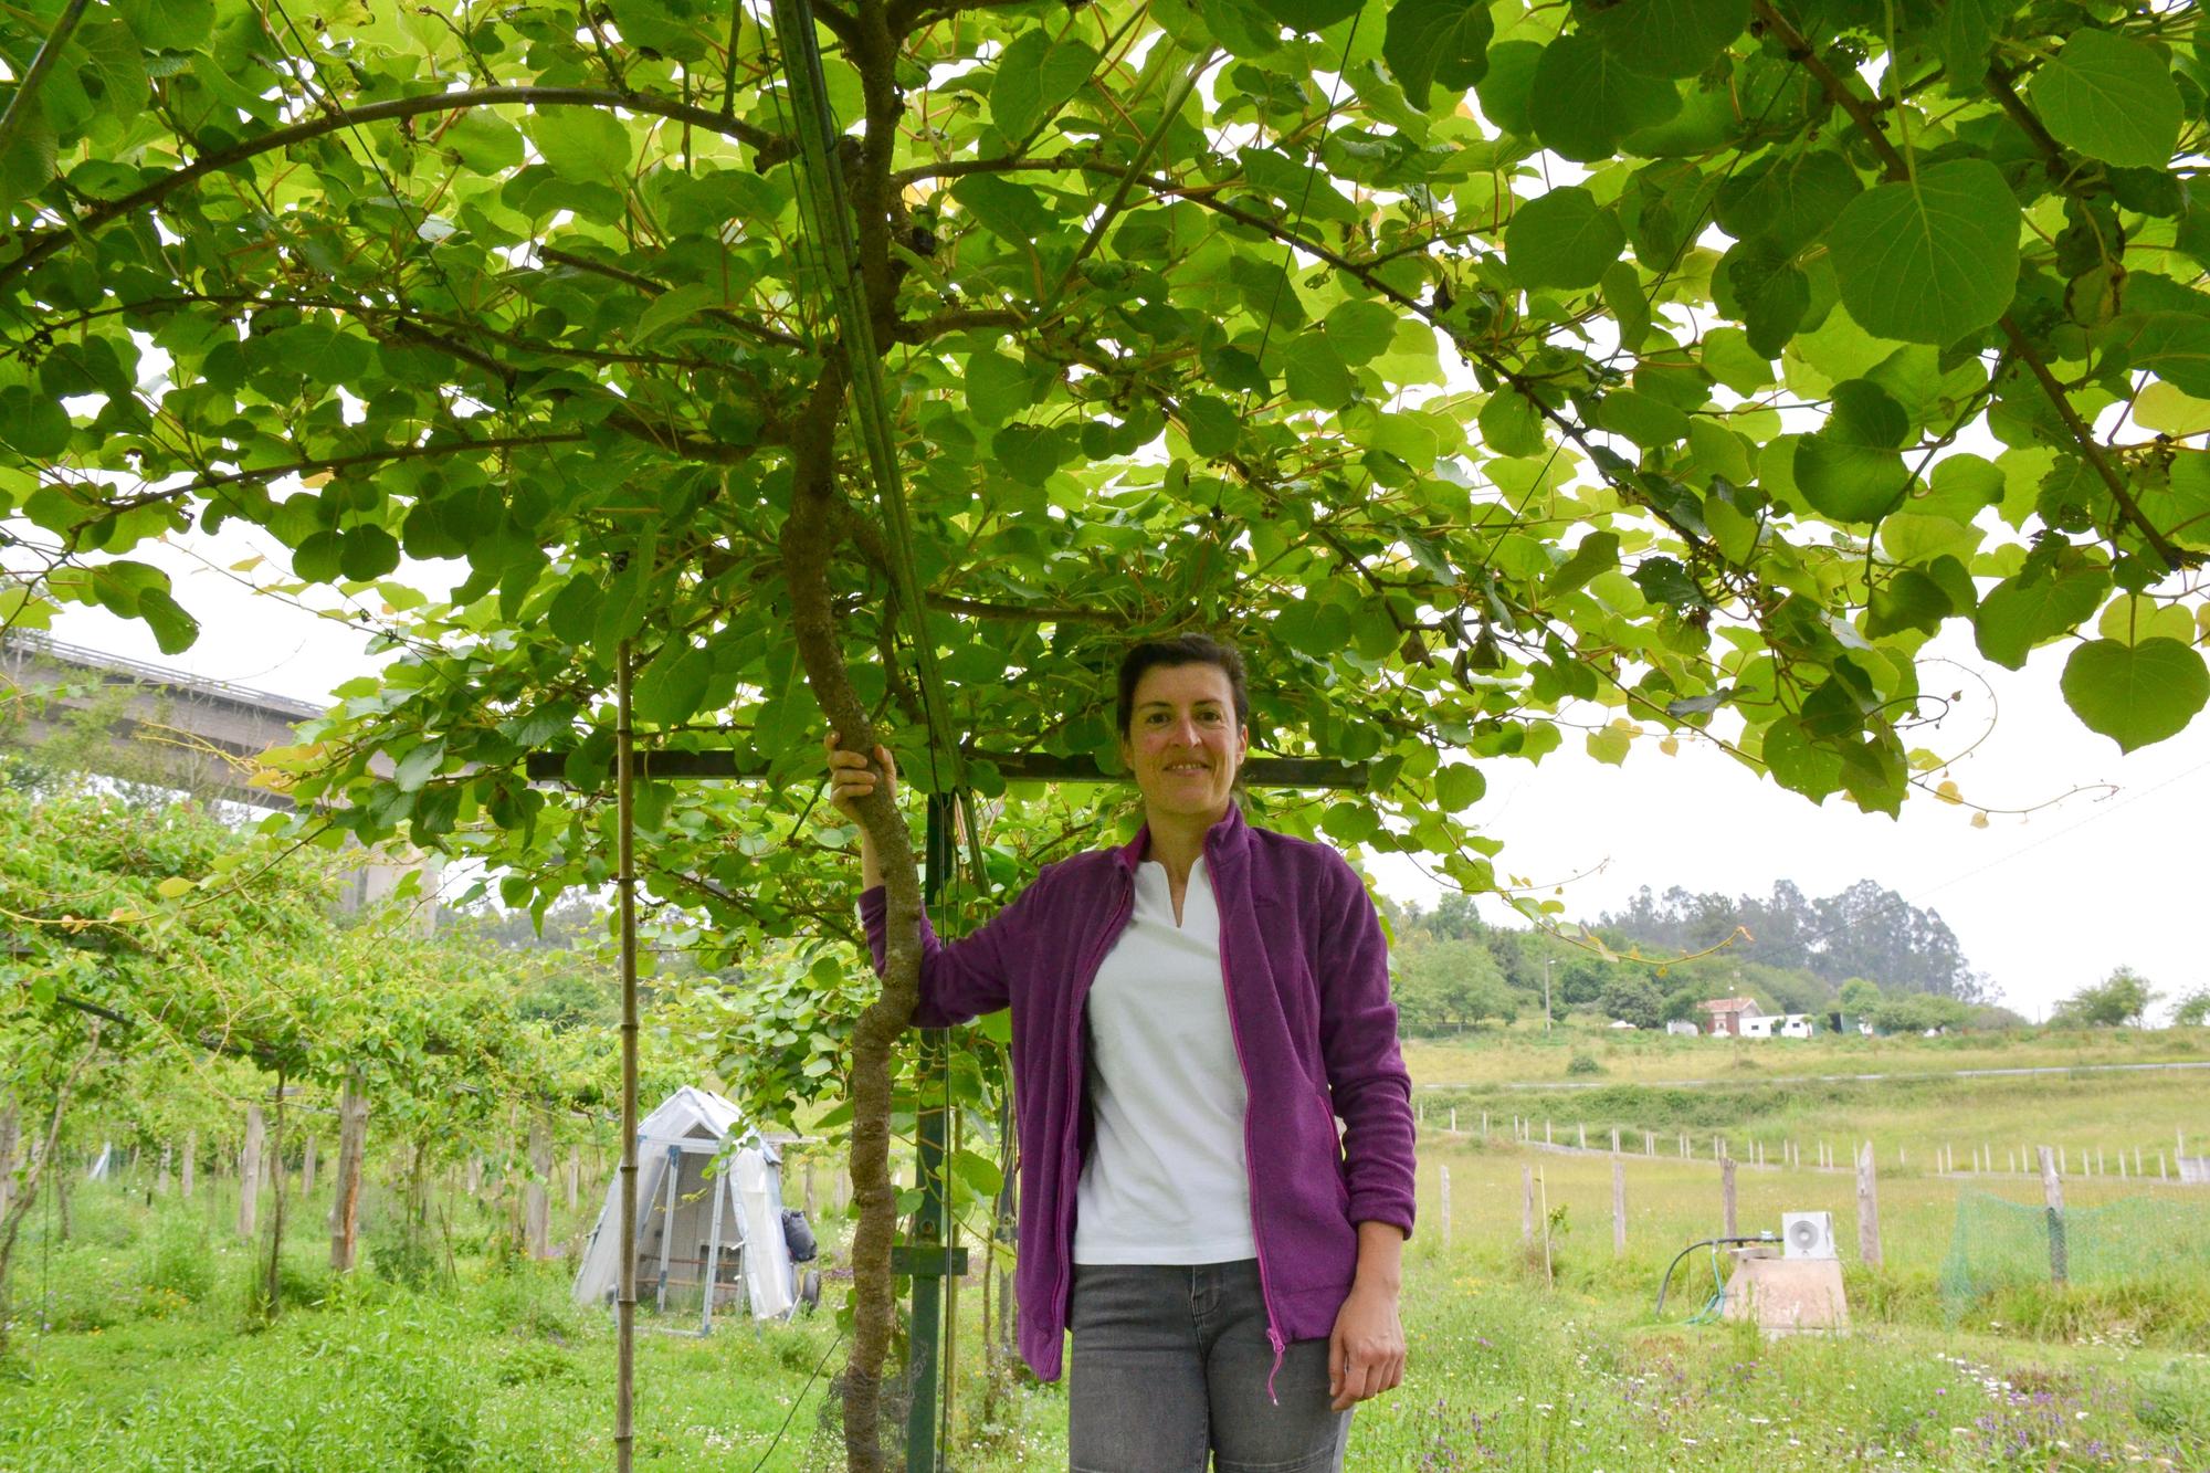
<svg viewBox="0 0 2210 1473">
<path fill-rule="evenodd" d="M 718 1174 L 707 1163 L 736 1141 Z M 636 1300 L 667 1309 L 670 1287 L 683 1309 L 734 1303 L 736 1274 L 754 1318 L 780 1318 L 798 1300 L 791 1250 L 782 1239 L 782 1157 L 745 1124 L 734 1104 L 683 1086 L 636 1128 Z M 621 1283 L 621 1174 L 606 1185 L 599 1225 L 575 1276 L 579 1305 L 612 1303 Z"/>
</svg>

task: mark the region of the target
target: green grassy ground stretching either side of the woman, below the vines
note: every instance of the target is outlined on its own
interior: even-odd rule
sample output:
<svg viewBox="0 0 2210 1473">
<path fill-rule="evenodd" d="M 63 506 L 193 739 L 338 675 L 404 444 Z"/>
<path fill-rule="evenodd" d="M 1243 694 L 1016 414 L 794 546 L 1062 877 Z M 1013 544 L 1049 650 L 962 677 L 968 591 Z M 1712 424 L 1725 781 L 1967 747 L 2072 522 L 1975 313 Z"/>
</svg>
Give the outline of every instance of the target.
<svg viewBox="0 0 2210 1473">
<path fill-rule="evenodd" d="M 1918 1057 L 1916 1044 L 1887 1048 L 1887 1059 L 1909 1064 L 1890 1073 L 1940 1075 L 1929 1059 L 1956 1064 L 1947 1048 Z M 1423 1084 L 1450 1077 L 1439 1059 L 1465 1064 L 1454 1077 L 1465 1101 L 1525 1106 L 1536 1093 L 1512 1088 L 1514 1053 L 1520 1079 L 1562 1073 L 1549 1068 L 1562 1057 L 1551 1048 L 1494 1042 L 1417 1051 L 1414 1059 Z M 1635 1062 L 1662 1055 L 1653 1048 Z M 1406 1254 L 1403 1298 L 1410 1378 L 1359 1411 L 1353 1469 L 2210 1469 L 2210 1190 L 2119 1181 L 2115 1170 L 2073 1179 L 2066 1199 L 2082 1234 L 2100 1205 L 2157 1201 L 2166 1225 L 2177 1223 L 2170 1252 L 2139 1272 L 2066 1289 L 2029 1272 L 1956 1305 L 1943 1298 L 1940 1267 L 1960 1194 L 1987 1190 L 2033 1205 L 2040 1188 L 1936 1177 L 1918 1161 L 1920 1141 L 1943 1124 L 1960 1155 L 1965 1124 L 1998 1150 L 2009 1137 L 2049 1137 L 2066 1119 L 2111 1115 L 2144 1139 L 2170 1141 L 2177 1128 L 2210 1139 L 2210 1119 L 2188 1126 L 2210 1097 L 2199 1075 L 2042 1077 L 2031 1088 L 1925 1077 L 1854 1086 L 1863 1093 L 1839 1099 L 1799 1099 L 1797 1086 L 1768 1082 L 1739 1097 L 1741 1086 L 1664 1088 L 1662 1077 L 1629 1068 L 1598 1084 L 1609 1088 L 1540 1093 L 1543 1108 L 1558 1110 L 1560 1139 L 1569 1104 L 1629 1088 L 1638 1108 L 1717 1110 L 1724 1119 L 1697 1124 L 1724 1130 L 1737 1155 L 1766 1135 L 1808 1150 L 1819 1121 L 1832 1124 L 1837 1141 L 1883 1143 L 1881 1270 L 1854 1263 L 1852 1177 L 1779 1166 L 1737 1172 L 1746 1232 L 1777 1228 L 1783 1210 L 1834 1212 L 1852 1334 L 1766 1343 L 1739 1325 L 1691 1323 L 1713 1287 L 1708 1254 L 1682 1265 L 1658 1318 L 1666 1263 L 1719 1230 L 1719 1172 L 1708 1159 L 1627 1159 L 1629 1247 L 1616 1256 L 1607 1155 L 1523 1148 L 1503 1126 L 1487 1141 L 1472 1130 L 1452 1137 L 1434 1115 L 1452 1090 L 1423 1090 L 1421 1232 Z M 1478 1106 L 1461 1104 L 1461 1126 L 1467 1108 Z M 1596 1117 L 1589 1124 L 1593 1139 Z M 1894 1146 L 1905 1141 L 1912 1163 L 1896 1168 Z M 1436 1201 L 1443 1168 L 1448 1243 Z M 1540 1254 L 1529 1263 L 1520 1250 L 1527 1168 L 1540 1172 L 1558 1214 L 1549 1283 Z M 612 1466 L 612 1327 L 568 1305 L 564 1265 L 495 1252 L 491 1214 L 457 1210 L 453 1252 L 429 1267 L 409 1263 L 371 1223 L 371 1267 L 343 1285 L 318 1267 L 320 1234 L 303 1232 L 285 1270 L 296 1307 L 259 1327 L 245 1309 L 254 1265 L 223 1230 L 221 1183 L 188 1208 L 148 1205 L 144 1190 L 99 1183 L 80 1185 L 75 1199 L 69 1243 L 44 1243 L 33 1219 L 18 1254 L 11 1351 L 0 1362 L 0 1473 Z M 294 1223 L 318 1221 L 314 1208 L 294 1205 Z M 950 1469 L 1063 1469 L 1059 1387 L 1012 1385 L 983 1404 L 977 1309 L 968 1289 Z M 827 1309 L 760 1329 L 725 1323 L 709 1340 L 643 1336 L 639 1466 L 840 1466 L 838 1354 Z"/>
</svg>

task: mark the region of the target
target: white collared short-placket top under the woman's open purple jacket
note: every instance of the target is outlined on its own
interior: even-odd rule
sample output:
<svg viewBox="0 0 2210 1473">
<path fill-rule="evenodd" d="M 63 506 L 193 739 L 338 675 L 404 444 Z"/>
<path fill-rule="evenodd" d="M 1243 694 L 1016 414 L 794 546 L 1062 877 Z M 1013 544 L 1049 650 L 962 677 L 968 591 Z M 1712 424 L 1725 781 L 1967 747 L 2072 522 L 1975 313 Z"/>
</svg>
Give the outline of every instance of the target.
<svg viewBox="0 0 2210 1473">
<path fill-rule="evenodd" d="M 1255 1258 L 1249 1104 L 1200 858 L 1174 922 L 1167 867 L 1136 867 L 1136 911 L 1085 1002 L 1096 1139 L 1074 1192 L 1074 1263 Z"/>
</svg>

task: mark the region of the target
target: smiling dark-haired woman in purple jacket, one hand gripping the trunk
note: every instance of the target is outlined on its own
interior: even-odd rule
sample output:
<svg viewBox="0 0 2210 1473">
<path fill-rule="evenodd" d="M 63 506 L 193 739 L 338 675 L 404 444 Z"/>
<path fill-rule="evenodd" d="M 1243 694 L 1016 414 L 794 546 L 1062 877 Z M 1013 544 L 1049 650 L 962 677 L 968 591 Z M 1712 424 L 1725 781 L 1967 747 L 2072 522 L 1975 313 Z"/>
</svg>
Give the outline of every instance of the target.
<svg viewBox="0 0 2210 1473">
<path fill-rule="evenodd" d="M 1012 1009 L 1019 1340 L 1056 1380 L 1074 1329 L 1072 1466 L 1341 1469 L 1350 1407 L 1403 1378 L 1412 1110 L 1381 927 L 1339 854 L 1244 823 L 1235 650 L 1136 644 L 1118 721 L 1143 832 L 964 940 L 924 918 L 913 1022 Z M 846 814 L 875 785 L 833 736 L 829 774 Z M 864 836 L 860 867 L 880 969 Z"/>
</svg>

